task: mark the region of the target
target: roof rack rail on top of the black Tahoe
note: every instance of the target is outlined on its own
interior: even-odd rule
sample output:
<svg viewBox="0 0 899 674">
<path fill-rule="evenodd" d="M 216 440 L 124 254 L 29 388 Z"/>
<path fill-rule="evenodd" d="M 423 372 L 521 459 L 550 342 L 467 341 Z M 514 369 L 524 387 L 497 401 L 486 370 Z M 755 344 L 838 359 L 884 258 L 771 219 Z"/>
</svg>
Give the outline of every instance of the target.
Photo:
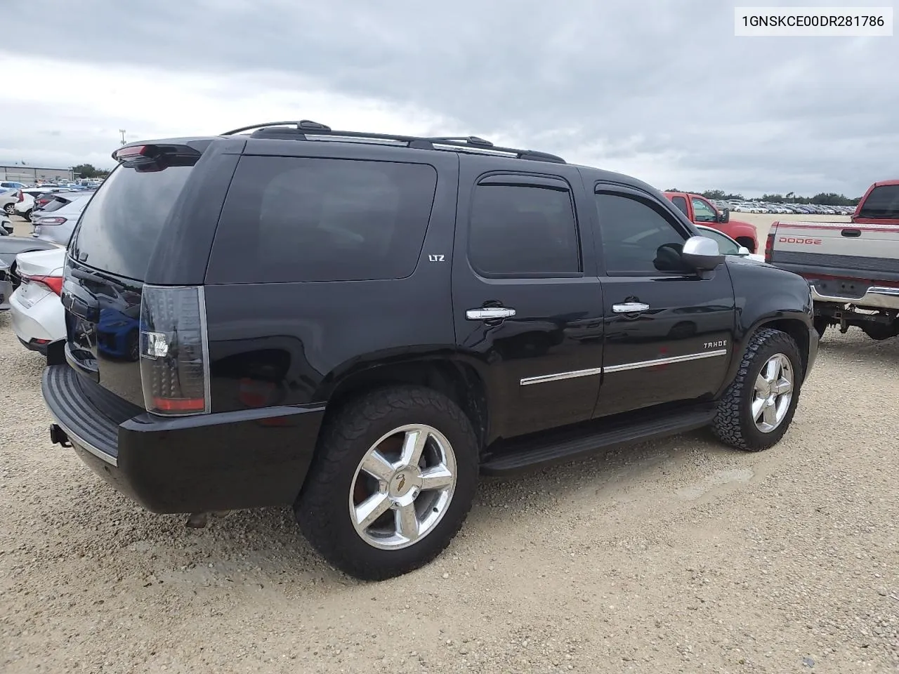
<svg viewBox="0 0 899 674">
<path fill-rule="evenodd" d="M 418 137 L 399 136 L 387 133 L 366 133 L 363 131 L 335 131 L 325 124 L 319 124 L 312 120 L 299 121 L 269 121 L 262 124 L 253 124 L 240 129 L 232 129 L 221 136 L 234 136 L 245 131 L 253 131 L 250 137 L 254 138 L 287 138 L 290 140 L 309 140 L 308 136 L 345 138 L 356 141 L 376 141 L 403 143 L 406 147 L 420 150 L 454 150 L 456 152 L 473 152 L 488 155 L 512 155 L 518 159 L 530 159 L 538 162 L 552 162 L 565 164 L 565 159 L 560 156 L 550 155 L 546 152 L 535 150 L 521 150 L 514 147 L 494 146 L 489 140 L 476 136 L 446 136 L 446 137 Z"/>
</svg>

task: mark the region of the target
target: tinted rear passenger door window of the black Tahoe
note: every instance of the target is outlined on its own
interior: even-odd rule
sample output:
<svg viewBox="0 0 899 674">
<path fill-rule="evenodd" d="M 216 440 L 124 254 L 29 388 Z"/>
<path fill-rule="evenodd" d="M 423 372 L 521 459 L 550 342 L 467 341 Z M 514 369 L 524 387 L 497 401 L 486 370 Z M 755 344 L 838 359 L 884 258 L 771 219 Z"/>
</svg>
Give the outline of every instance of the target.
<svg viewBox="0 0 899 674">
<path fill-rule="evenodd" d="M 576 274 L 581 249 L 571 192 L 533 185 L 477 185 L 468 260 L 485 275 Z"/>
</svg>

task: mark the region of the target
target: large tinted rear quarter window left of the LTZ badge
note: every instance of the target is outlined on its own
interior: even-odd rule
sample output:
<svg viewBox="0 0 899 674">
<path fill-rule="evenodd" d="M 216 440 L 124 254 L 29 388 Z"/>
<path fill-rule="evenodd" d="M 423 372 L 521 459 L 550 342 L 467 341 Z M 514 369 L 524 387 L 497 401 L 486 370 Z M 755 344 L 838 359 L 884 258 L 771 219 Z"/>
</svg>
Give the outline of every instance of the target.
<svg viewBox="0 0 899 674">
<path fill-rule="evenodd" d="M 426 164 L 245 156 L 207 280 L 403 279 L 422 252 L 436 185 Z"/>
</svg>

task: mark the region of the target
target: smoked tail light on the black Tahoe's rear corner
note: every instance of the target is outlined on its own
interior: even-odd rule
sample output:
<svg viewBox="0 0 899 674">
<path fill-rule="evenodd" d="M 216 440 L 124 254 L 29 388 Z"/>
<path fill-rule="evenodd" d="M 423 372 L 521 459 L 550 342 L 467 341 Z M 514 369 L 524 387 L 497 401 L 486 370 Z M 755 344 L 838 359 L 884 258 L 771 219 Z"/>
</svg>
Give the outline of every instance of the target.
<svg viewBox="0 0 899 674">
<path fill-rule="evenodd" d="M 147 412 L 209 412 L 208 350 L 203 288 L 145 285 L 140 302 L 140 380 Z"/>
</svg>

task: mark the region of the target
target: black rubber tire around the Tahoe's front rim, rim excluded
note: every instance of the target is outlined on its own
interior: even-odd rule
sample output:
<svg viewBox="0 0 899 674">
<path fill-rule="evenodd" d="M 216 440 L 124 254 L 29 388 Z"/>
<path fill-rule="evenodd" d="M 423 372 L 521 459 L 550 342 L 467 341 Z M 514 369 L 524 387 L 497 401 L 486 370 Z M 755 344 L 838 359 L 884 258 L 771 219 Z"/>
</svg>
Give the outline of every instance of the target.
<svg viewBox="0 0 899 674">
<path fill-rule="evenodd" d="M 793 395 L 787 413 L 779 426 L 763 432 L 752 419 L 752 394 L 761 368 L 772 356 L 781 353 L 793 368 Z M 718 439 L 731 447 L 758 452 L 776 445 L 787 432 L 802 387 L 803 367 L 796 341 L 787 333 L 761 328 L 752 335 L 743 353 L 737 375 L 717 404 L 712 430 Z"/>
</svg>

